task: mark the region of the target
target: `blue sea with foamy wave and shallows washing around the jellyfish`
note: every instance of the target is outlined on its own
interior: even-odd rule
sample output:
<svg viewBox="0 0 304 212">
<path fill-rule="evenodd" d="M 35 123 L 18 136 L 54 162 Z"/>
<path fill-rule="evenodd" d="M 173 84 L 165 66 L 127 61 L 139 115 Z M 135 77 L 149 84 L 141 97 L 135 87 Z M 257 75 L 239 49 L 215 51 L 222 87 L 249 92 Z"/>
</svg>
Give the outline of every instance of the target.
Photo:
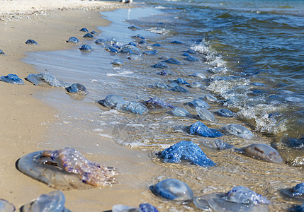
<svg viewBox="0 0 304 212">
<path fill-rule="evenodd" d="M 47 142 L 40 146 L 71 146 L 94 154 L 101 152 L 103 142 L 111 142 L 120 151 L 103 149 L 102 153 L 109 157 L 120 155 L 118 158 L 124 160 L 123 157 L 135 157 L 133 153 L 144 153 L 146 163 L 162 167 L 160 172 L 149 175 L 150 179 L 145 175 L 145 187 L 158 179 L 175 177 L 191 185 L 198 196 L 244 185 L 267 196 L 275 211 L 291 207 L 293 203 L 281 199 L 278 191 L 303 182 L 303 1 L 151 0 L 135 1 L 133 5 L 134 8 L 102 12 L 111 24 L 89 29 L 100 32 L 94 39 L 79 37 L 81 44 L 91 45 L 92 52 L 81 52 L 80 45 L 67 44 L 71 46 L 69 50 L 31 52 L 24 59 L 38 72 L 48 71 L 62 81 L 84 84 L 89 90 L 84 98 L 57 88 L 43 96 L 37 94 L 59 111 L 58 122 L 50 127 Z M 107 42 L 96 45 L 98 38 Z M 109 45 L 119 49 L 129 42 L 137 45 L 129 47 L 138 60 L 128 59 L 130 54 L 106 50 Z M 157 54 L 143 53 L 148 50 L 157 50 Z M 184 56 L 187 51 L 197 60 L 189 61 Z M 167 64 L 166 69 L 152 67 L 168 58 L 183 64 Z M 114 59 L 122 60 L 124 65 L 113 65 Z M 167 75 L 157 74 L 161 71 Z M 193 77 L 193 73 L 203 73 L 206 78 Z M 169 85 L 177 78 L 202 86 L 181 85 L 188 93 L 155 88 L 156 83 Z M 220 137 L 222 141 L 236 148 L 252 143 L 268 144 L 278 150 L 286 163 L 247 158 L 233 149 L 218 151 L 214 148 L 215 139 L 184 131 L 184 126 L 197 121 L 193 118 L 174 117 L 166 112 L 128 114 L 98 105 L 98 100 L 110 94 L 132 101 L 161 98 L 193 115 L 196 110 L 187 103 L 203 98 L 212 113 L 223 108 L 235 113 L 230 118 L 215 115 L 216 121 L 203 120 L 204 124 L 219 130 L 228 124 L 240 124 L 254 133 L 254 139 L 225 134 Z M 206 99 L 206 95 L 217 101 Z M 218 166 L 169 165 L 157 158 L 155 153 L 182 140 L 198 143 Z M 140 167 L 139 161 L 133 163 Z M 119 164 L 118 168 L 124 170 L 123 163 L 120 167 Z M 128 165 L 128 171 L 132 172 L 132 165 Z M 136 172 L 144 175 L 147 170 Z M 147 191 L 142 195 L 160 208 L 197 210 L 193 205 L 164 203 Z"/>
</svg>

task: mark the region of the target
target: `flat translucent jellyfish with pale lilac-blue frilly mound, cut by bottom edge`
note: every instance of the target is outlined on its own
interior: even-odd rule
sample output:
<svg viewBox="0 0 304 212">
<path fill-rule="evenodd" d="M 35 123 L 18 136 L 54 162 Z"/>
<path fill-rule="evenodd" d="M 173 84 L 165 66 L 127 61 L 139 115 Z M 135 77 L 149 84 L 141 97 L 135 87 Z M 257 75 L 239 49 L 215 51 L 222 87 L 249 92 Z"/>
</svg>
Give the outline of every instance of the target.
<svg viewBox="0 0 304 212">
<path fill-rule="evenodd" d="M 222 194 L 196 196 L 193 200 L 196 207 L 204 211 L 269 211 L 269 200 L 247 187 L 233 187 Z"/>
</svg>

